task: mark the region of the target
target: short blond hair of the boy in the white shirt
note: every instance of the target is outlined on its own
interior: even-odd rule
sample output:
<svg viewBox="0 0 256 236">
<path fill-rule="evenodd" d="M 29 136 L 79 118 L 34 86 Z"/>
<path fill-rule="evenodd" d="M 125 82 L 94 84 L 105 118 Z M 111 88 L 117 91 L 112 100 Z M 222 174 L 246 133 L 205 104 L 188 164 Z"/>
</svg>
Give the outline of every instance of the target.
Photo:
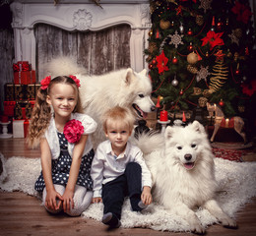
<svg viewBox="0 0 256 236">
<path fill-rule="evenodd" d="M 129 127 L 129 130 L 132 131 L 134 128 L 135 118 L 129 109 L 121 106 L 114 106 L 113 108 L 108 109 L 101 117 L 101 122 L 105 133 L 107 133 L 106 123 L 109 121 L 122 121 Z"/>
</svg>

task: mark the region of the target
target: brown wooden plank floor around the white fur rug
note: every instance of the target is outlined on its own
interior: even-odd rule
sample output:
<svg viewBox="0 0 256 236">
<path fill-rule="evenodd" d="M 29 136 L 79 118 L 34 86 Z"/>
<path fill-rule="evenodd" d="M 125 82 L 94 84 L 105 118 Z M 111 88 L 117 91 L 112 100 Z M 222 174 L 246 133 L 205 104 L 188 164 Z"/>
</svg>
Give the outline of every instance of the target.
<svg viewBox="0 0 256 236">
<path fill-rule="evenodd" d="M 5 157 L 39 157 L 39 150 L 26 148 L 24 139 L 0 140 L 0 152 Z M 236 213 L 238 229 L 227 229 L 212 225 L 207 229 L 208 236 L 247 236 L 256 235 L 256 198 Z M 40 201 L 24 193 L 0 192 L 0 236 L 7 235 L 149 235 L 180 236 L 190 233 L 161 232 L 152 229 L 114 229 L 93 219 L 69 217 L 65 214 L 50 215 Z"/>
</svg>

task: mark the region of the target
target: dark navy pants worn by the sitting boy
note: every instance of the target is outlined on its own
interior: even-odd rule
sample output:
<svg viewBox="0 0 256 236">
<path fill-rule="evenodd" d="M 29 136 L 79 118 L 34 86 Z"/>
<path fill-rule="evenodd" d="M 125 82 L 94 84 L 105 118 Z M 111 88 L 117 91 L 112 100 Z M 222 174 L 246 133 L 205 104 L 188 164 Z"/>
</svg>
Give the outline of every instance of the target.
<svg viewBox="0 0 256 236">
<path fill-rule="evenodd" d="M 129 196 L 132 209 L 142 210 L 138 206 L 142 193 L 142 168 L 136 162 L 127 164 L 124 174 L 106 183 L 102 188 L 103 213 L 112 212 L 121 218 L 124 198 Z"/>
</svg>

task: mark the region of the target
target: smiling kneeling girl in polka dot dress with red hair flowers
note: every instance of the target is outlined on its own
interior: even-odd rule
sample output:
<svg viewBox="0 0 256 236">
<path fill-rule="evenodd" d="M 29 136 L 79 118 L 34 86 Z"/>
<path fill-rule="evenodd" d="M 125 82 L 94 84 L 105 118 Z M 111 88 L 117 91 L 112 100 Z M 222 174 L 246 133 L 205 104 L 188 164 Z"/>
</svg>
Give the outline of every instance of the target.
<svg viewBox="0 0 256 236">
<path fill-rule="evenodd" d="M 96 122 L 81 114 L 80 81 L 59 76 L 41 81 L 32 111 L 28 144 L 40 146 L 41 174 L 34 189 L 42 193 L 44 207 L 80 215 L 93 197 L 90 175 L 94 149 L 89 137 Z"/>
</svg>

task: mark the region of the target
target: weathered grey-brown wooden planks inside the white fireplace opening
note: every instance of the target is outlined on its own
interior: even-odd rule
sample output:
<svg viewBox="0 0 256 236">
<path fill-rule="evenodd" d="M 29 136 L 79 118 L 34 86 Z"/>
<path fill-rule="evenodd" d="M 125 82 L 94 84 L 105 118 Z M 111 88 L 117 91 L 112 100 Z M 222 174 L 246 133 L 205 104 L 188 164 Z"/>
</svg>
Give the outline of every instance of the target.
<svg viewBox="0 0 256 236">
<path fill-rule="evenodd" d="M 47 76 L 44 64 L 62 55 L 75 58 L 89 75 L 130 67 L 131 29 L 128 25 L 70 32 L 38 24 L 34 34 L 38 81 Z"/>
</svg>

